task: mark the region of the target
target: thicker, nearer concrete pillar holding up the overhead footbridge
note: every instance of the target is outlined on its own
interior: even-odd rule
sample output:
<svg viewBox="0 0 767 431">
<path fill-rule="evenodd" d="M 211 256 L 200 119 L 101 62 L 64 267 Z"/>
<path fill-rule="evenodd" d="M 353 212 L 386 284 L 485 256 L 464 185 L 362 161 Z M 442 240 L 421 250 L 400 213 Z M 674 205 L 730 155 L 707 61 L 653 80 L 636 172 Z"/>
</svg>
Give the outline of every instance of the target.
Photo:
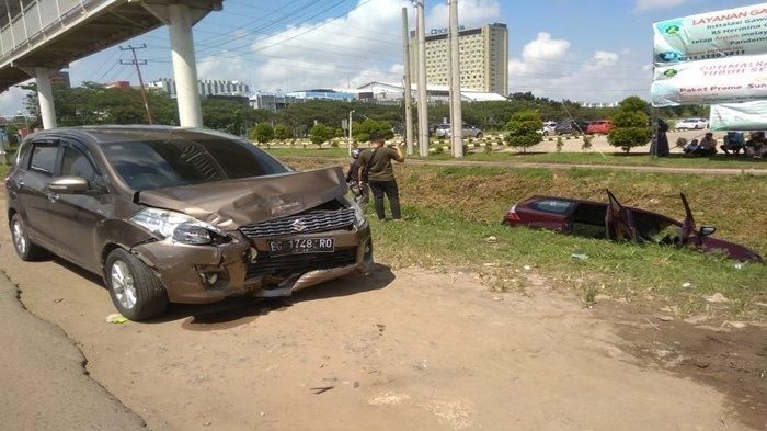
<svg viewBox="0 0 767 431">
<path fill-rule="evenodd" d="M 184 127 L 203 127 L 203 112 L 197 90 L 197 64 L 192 35 L 192 11 L 186 4 L 169 4 L 168 18 L 179 122 Z"/>
</svg>

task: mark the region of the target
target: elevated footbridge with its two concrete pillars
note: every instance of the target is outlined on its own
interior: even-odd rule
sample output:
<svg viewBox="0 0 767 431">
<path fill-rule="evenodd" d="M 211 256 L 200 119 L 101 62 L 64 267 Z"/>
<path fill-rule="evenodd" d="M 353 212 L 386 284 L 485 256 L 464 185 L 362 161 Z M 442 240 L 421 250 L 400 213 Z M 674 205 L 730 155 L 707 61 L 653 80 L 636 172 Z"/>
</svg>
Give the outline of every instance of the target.
<svg viewBox="0 0 767 431">
<path fill-rule="evenodd" d="M 0 0 L 0 91 L 35 78 L 43 127 L 56 127 L 53 71 L 167 25 L 179 120 L 201 127 L 192 26 L 221 8 L 222 0 Z"/>
</svg>

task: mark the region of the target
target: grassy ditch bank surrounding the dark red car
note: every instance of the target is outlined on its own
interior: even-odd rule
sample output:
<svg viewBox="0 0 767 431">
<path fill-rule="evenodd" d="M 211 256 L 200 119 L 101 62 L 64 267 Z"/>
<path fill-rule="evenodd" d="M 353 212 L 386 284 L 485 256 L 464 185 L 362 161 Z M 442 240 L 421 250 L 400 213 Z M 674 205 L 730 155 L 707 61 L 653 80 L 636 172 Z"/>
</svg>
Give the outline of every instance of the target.
<svg viewBox="0 0 767 431">
<path fill-rule="evenodd" d="M 298 168 L 331 163 L 309 160 Z M 767 251 L 767 180 L 752 175 L 649 174 L 641 172 L 542 168 L 402 166 L 397 169 L 408 223 L 371 222 L 377 256 L 388 263 L 479 273 L 493 288 L 525 292 L 531 274 L 572 288 L 584 305 L 599 295 L 630 300 L 652 298 L 679 315 L 719 304 L 728 314 L 767 317 L 767 265 L 739 264 L 720 256 L 655 245 L 614 243 L 543 230 L 507 228 L 508 207 L 531 194 L 605 201 L 610 189 L 626 204 L 680 219 L 685 192 L 698 224 L 717 236 Z M 495 237 L 495 240 L 488 240 Z M 529 268 L 529 269 L 526 269 Z"/>
</svg>

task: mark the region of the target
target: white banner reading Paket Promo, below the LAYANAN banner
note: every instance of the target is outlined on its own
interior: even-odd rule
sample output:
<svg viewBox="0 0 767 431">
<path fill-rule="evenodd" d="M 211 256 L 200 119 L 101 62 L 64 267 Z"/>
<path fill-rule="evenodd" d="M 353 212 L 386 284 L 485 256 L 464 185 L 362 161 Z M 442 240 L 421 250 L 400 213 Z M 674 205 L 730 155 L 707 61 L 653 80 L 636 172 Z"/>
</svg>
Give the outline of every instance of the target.
<svg viewBox="0 0 767 431">
<path fill-rule="evenodd" d="M 767 99 L 767 55 L 724 57 L 656 67 L 651 99 L 653 106 Z"/>
</svg>

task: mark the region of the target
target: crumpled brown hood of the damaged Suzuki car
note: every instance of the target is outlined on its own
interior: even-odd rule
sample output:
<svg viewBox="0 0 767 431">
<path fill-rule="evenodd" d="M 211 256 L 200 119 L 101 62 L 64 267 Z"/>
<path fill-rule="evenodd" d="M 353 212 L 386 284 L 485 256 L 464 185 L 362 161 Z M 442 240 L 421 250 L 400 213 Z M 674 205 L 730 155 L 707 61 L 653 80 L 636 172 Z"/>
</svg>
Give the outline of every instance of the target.
<svg viewBox="0 0 767 431">
<path fill-rule="evenodd" d="M 138 192 L 142 205 L 188 214 L 221 230 L 298 214 L 346 193 L 341 167 Z"/>
</svg>

